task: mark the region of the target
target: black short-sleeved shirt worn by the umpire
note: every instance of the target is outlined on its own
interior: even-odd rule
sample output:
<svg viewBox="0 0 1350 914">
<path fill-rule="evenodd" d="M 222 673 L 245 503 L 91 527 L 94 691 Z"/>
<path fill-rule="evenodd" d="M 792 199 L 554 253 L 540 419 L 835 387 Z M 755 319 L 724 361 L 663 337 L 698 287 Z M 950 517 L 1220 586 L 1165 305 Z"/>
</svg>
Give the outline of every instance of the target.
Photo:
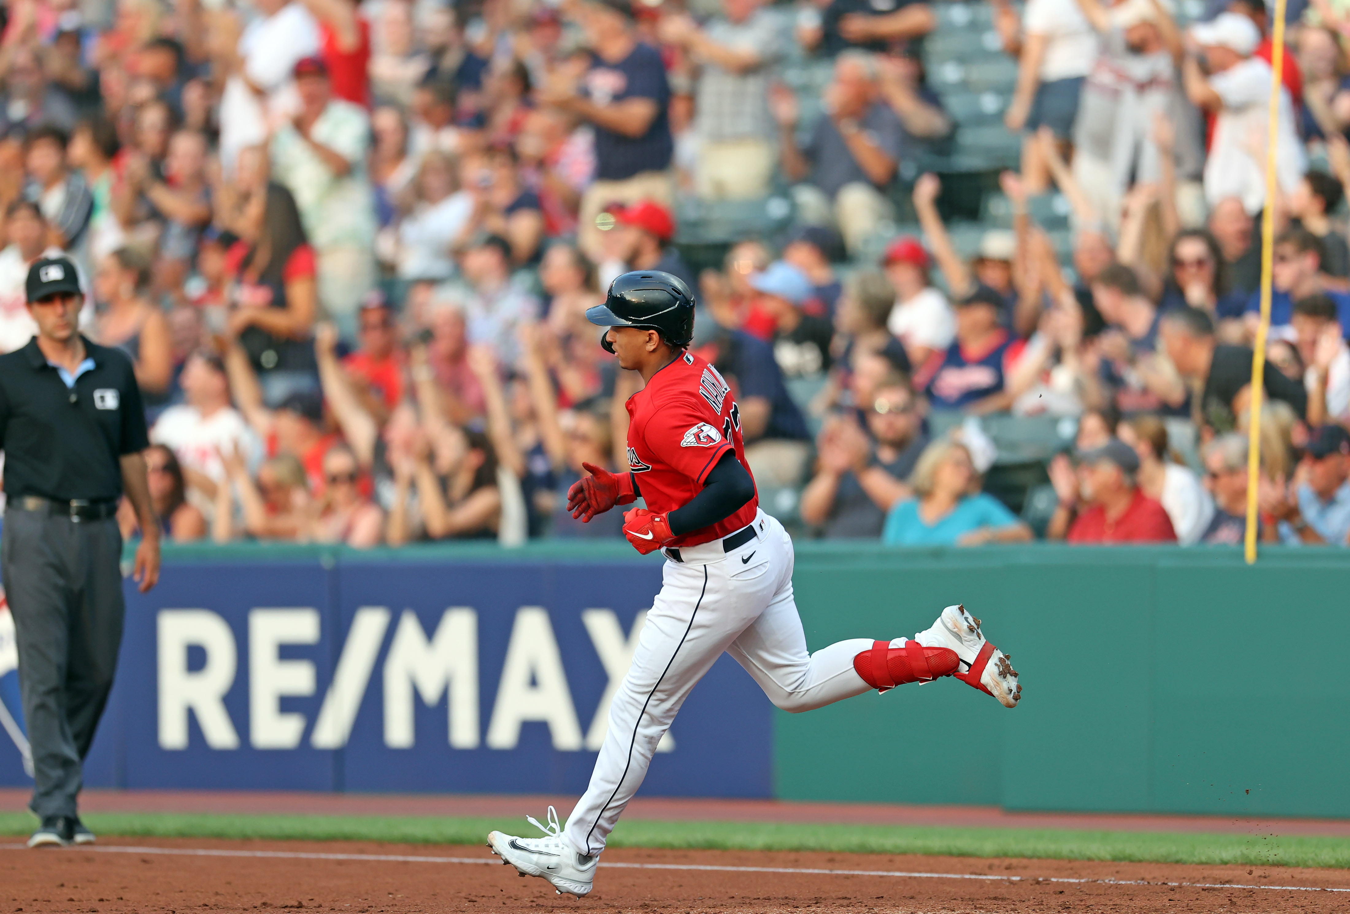
<svg viewBox="0 0 1350 914">
<path fill-rule="evenodd" d="M 93 360 L 66 387 L 38 339 L 0 355 L 0 447 L 9 498 L 112 501 L 122 497 L 122 456 L 150 447 L 131 359 L 84 342 Z"/>
</svg>

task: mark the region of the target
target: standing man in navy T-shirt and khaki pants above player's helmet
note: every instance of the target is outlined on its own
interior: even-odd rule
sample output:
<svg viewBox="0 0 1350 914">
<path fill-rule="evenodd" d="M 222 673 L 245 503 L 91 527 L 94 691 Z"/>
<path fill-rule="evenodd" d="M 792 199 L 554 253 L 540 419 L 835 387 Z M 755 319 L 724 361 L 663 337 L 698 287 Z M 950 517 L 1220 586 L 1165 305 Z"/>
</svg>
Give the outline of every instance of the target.
<svg viewBox="0 0 1350 914">
<path fill-rule="evenodd" d="M 595 217 L 606 207 L 672 201 L 671 93 L 660 51 L 639 41 L 629 0 L 583 0 L 578 12 L 590 69 L 578 76 L 558 68 L 535 96 L 595 128 L 595 181 L 582 194 L 578 221 L 582 250 L 598 261 Z"/>
</svg>

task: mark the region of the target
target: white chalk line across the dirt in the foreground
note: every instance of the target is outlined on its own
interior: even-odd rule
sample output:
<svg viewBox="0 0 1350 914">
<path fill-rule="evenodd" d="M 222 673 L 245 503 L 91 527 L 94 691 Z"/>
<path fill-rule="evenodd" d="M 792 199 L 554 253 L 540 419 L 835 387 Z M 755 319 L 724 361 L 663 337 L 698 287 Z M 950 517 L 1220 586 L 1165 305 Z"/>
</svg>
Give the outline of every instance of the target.
<svg viewBox="0 0 1350 914">
<path fill-rule="evenodd" d="M 27 851 L 23 844 L 0 844 L 0 851 Z M 96 853 L 142 853 L 171 855 L 186 857 L 252 857 L 265 860 L 355 860 L 366 863 L 454 863 L 454 864 L 495 864 L 498 857 L 428 857 L 405 853 L 324 853 L 321 851 L 231 851 L 228 848 L 159 848 L 159 846 L 116 846 L 86 844 L 70 851 L 92 851 Z M 50 849 L 34 853 L 53 853 Z M 1196 883 L 1196 882 L 1149 882 L 1146 879 L 1073 879 L 1069 876 L 998 876 L 968 872 L 907 872 L 900 869 L 824 869 L 815 867 L 729 867 L 698 863 L 620 863 L 605 860 L 601 867 L 613 869 L 694 869 L 699 872 L 772 872 L 796 876 L 888 876 L 894 879 L 976 879 L 983 882 L 1026 882 L 1026 883 L 1068 883 L 1075 886 L 1172 886 L 1177 888 L 1266 888 L 1296 892 L 1350 892 L 1350 888 L 1323 888 L 1320 886 L 1257 886 L 1243 883 Z"/>
</svg>

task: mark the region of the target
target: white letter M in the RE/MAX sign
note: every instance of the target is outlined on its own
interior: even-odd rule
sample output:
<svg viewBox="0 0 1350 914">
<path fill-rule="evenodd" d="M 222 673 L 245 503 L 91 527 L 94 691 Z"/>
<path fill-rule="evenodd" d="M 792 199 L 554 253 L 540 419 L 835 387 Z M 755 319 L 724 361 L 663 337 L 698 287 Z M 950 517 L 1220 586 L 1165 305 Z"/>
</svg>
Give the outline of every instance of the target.
<svg viewBox="0 0 1350 914">
<path fill-rule="evenodd" d="M 473 609 L 447 609 L 431 641 L 413 610 L 400 617 L 385 657 L 385 745 L 390 749 L 414 745 L 414 687 L 428 705 L 448 693 L 451 748 L 478 748 L 478 614 Z"/>
</svg>

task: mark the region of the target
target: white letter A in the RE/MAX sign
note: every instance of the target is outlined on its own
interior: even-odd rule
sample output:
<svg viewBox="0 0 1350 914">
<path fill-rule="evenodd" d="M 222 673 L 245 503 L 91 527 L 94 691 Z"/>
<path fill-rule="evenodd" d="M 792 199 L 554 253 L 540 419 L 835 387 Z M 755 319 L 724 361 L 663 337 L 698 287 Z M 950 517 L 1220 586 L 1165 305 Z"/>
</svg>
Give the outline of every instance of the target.
<svg viewBox="0 0 1350 914">
<path fill-rule="evenodd" d="M 582 728 L 563 674 L 563 657 L 543 606 L 521 606 L 516 612 L 487 725 L 487 748 L 514 749 L 525 721 L 548 724 L 554 748 L 560 752 L 582 748 Z"/>
</svg>

